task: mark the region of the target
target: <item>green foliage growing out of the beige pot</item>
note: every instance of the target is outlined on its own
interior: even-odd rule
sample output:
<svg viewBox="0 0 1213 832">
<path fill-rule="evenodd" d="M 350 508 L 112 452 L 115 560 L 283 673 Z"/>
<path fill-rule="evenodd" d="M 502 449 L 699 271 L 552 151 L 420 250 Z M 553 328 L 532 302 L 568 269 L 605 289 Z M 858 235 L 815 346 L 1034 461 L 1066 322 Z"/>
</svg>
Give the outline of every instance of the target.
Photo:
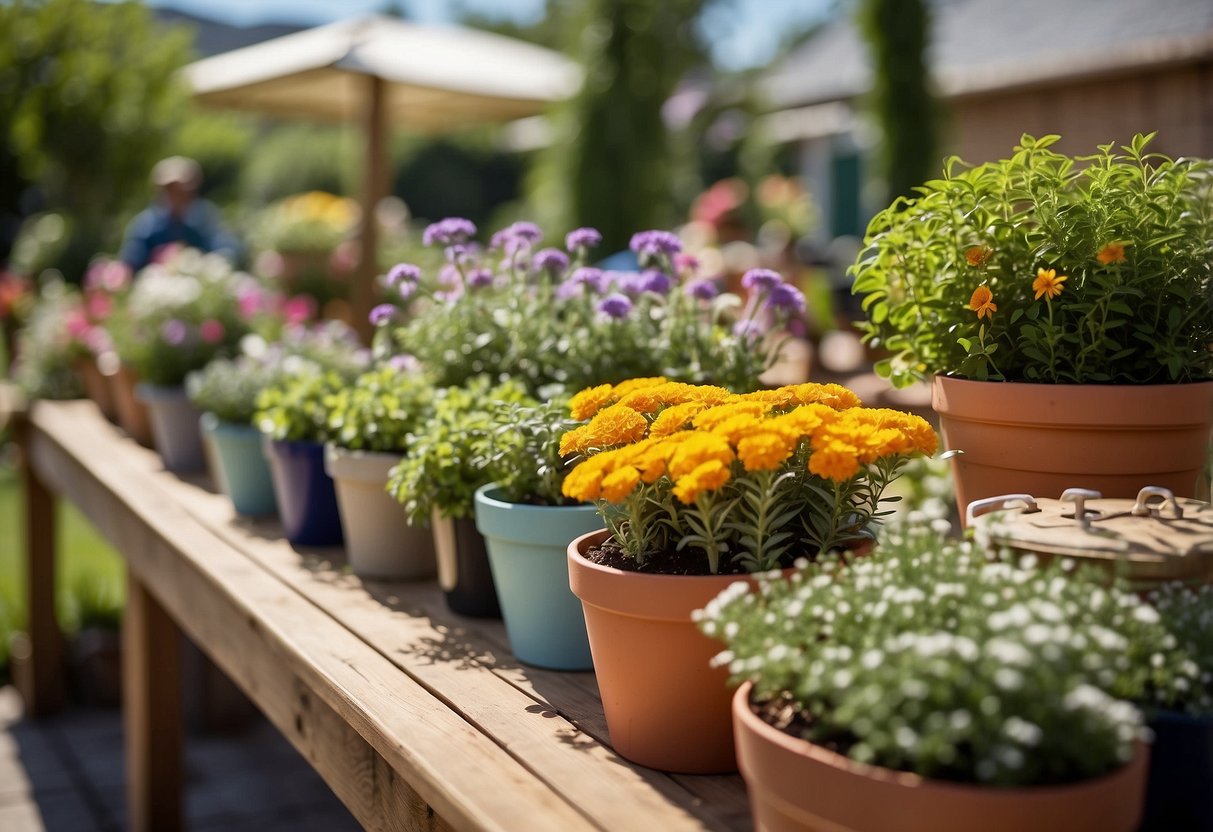
<svg viewBox="0 0 1213 832">
<path fill-rule="evenodd" d="M 432 400 L 433 386 L 423 375 L 385 365 L 328 401 L 329 433 L 342 448 L 408 454 L 409 435 L 423 426 Z"/>
</svg>

